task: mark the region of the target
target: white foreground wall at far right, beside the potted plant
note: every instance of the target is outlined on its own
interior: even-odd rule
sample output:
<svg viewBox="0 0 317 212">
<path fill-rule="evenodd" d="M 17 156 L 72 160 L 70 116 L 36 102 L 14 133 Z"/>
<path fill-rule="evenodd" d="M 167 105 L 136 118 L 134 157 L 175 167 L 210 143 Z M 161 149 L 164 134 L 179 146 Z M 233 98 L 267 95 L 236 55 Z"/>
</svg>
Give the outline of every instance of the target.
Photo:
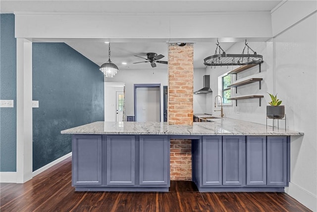
<svg viewBox="0 0 317 212">
<path fill-rule="evenodd" d="M 304 137 L 291 141 L 288 194 L 317 211 L 317 15 L 274 40 L 276 91 L 284 100 L 288 126 Z"/>
</svg>

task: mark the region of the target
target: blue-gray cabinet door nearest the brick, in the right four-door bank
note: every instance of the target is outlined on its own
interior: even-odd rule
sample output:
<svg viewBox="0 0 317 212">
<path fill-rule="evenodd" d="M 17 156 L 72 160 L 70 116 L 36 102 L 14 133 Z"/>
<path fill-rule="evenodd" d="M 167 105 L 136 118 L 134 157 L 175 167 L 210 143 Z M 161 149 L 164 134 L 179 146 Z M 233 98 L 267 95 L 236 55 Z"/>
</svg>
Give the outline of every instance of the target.
<svg viewBox="0 0 317 212">
<path fill-rule="evenodd" d="M 203 186 L 222 185 L 222 137 L 203 137 Z"/>
</svg>

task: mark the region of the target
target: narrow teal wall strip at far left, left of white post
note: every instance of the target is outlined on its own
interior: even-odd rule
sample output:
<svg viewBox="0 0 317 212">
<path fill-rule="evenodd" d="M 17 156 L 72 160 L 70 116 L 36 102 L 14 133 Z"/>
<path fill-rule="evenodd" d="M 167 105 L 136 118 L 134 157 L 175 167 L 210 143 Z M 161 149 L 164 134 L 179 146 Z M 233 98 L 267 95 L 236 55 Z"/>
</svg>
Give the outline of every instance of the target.
<svg viewBox="0 0 317 212">
<path fill-rule="evenodd" d="M 0 99 L 14 101 L 0 108 L 0 171 L 16 171 L 16 39 L 14 15 L 0 14 Z"/>
</svg>

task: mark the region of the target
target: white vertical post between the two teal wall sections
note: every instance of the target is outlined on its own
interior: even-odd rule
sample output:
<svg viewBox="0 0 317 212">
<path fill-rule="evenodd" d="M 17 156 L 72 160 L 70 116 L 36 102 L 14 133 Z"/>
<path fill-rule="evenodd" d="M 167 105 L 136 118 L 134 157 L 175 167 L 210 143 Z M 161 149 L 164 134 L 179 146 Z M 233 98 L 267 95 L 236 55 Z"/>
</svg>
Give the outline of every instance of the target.
<svg viewBox="0 0 317 212">
<path fill-rule="evenodd" d="M 32 179 L 32 42 L 16 39 L 16 182 Z"/>
</svg>

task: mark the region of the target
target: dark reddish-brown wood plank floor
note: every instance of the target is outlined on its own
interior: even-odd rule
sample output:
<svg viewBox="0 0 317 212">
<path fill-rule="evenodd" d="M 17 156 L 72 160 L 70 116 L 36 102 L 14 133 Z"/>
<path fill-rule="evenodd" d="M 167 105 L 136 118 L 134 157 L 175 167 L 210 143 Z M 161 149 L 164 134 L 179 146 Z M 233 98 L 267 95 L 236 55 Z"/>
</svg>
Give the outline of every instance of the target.
<svg viewBox="0 0 317 212">
<path fill-rule="evenodd" d="M 75 192 L 71 158 L 24 184 L 0 184 L 1 212 L 309 212 L 285 193 L 199 193 L 190 181 L 170 192 Z"/>
</svg>

